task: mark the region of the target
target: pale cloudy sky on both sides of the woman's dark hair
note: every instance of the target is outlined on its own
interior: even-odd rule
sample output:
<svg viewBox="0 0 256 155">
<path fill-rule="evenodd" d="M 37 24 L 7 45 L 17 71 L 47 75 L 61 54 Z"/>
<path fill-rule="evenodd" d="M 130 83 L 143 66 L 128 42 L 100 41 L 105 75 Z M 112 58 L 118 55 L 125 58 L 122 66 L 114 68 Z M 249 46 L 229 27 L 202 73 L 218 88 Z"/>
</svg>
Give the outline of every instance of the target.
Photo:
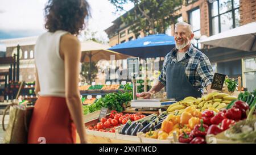
<svg viewBox="0 0 256 155">
<path fill-rule="evenodd" d="M 48 0 L 1 0 L 0 1 L 0 40 L 17 37 L 38 36 L 45 32 L 44 6 Z M 87 0 L 91 7 L 89 19 L 90 31 L 97 31 L 97 36 L 108 40 L 104 30 L 112 26 L 114 19 L 125 12 L 115 13 L 114 6 L 108 0 Z M 133 5 L 127 4 L 125 10 Z M 6 51 L 0 43 L 0 51 Z"/>
</svg>

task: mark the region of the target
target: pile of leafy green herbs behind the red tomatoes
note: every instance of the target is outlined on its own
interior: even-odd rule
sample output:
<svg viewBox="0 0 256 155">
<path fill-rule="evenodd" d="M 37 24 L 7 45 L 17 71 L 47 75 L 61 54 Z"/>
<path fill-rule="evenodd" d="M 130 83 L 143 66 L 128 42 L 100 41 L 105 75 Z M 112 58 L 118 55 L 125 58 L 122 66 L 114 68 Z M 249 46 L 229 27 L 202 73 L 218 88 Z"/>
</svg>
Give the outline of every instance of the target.
<svg viewBox="0 0 256 155">
<path fill-rule="evenodd" d="M 128 102 L 133 99 L 133 94 L 129 90 L 131 90 L 131 87 L 126 85 L 125 93 L 109 93 L 106 94 L 104 98 L 98 99 L 95 103 L 88 106 L 83 106 L 84 115 L 101 110 L 102 107 L 109 108 L 109 110 L 122 112 L 123 104 L 127 105 Z"/>
</svg>

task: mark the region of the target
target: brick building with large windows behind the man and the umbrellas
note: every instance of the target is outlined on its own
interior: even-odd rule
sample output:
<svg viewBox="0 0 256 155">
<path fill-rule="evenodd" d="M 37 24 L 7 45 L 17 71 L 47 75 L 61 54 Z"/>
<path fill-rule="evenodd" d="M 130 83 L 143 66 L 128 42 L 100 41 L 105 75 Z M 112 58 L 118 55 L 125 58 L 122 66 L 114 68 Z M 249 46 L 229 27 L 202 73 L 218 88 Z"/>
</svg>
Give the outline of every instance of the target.
<svg viewBox="0 0 256 155">
<path fill-rule="evenodd" d="M 255 12 L 255 0 L 184 0 L 183 5 L 176 9 L 175 14 L 177 21 L 184 21 L 192 25 L 193 32 L 199 39 L 197 41 L 200 41 L 200 36 L 209 37 L 247 23 L 256 22 Z M 173 36 L 174 24 L 167 30 L 166 33 Z M 131 32 L 129 26 L 121 22 L 121 18 L 115 19 L 113 26 L 105 31 L 108 33 L 110 46 L 144 36 L 143 33 Z M 193 40 L 193 43 L 197 45 L 197 41 Z M 256 88 L 256 51 L 246 52 L 229 48 L 204 47 L 200 44 L 198 47 L 209 57 L 214 72 L 223 73 L 232 78 L 241 76 L 243 86 L 249 87 L 249 90 Z"/>
</svg>

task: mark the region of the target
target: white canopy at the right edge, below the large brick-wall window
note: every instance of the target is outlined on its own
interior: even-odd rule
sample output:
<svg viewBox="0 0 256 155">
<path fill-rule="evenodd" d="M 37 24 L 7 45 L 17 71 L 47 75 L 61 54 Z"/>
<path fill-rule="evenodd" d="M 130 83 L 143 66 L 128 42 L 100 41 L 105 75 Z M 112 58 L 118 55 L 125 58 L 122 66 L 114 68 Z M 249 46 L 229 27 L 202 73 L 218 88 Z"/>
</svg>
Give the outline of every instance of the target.
<svg viewBox="0 0 256 155">
<path fill-rule="evenodd" d="M 200 41 L 204 45 L 256 51 L 256 22 L 218 33 Z"/>
</svg>

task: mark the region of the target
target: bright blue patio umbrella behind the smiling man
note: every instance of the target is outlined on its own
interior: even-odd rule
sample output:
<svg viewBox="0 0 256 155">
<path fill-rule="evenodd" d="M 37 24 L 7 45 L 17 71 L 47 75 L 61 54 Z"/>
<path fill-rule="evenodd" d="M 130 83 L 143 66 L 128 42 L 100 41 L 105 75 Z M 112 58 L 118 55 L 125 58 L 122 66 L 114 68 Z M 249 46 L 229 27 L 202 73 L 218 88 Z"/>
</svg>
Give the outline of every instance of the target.
<svg viewBox="0 0 256 155">
<path fill-rule="evenodd" d="M 140 58 L 164 57 L 175 47 L 173 36 L 149 35 L 140 39 L 115 45 L 109 50 Z"/>
</svg>

